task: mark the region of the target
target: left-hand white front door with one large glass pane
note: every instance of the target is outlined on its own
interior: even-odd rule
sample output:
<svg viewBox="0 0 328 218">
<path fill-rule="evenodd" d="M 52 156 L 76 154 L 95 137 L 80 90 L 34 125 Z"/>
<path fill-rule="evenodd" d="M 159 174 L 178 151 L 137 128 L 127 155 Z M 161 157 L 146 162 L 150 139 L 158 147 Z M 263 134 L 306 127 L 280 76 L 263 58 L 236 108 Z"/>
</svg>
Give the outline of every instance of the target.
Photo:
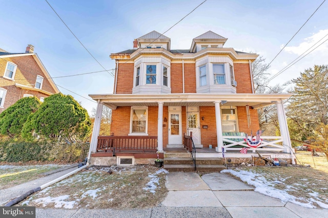
<svg viewBox="0 0 328 218">
<path fill-rule="evenodd" d="M 182 144 L 181 112 L 169 112 L 169 144 Z"/>
</svg>

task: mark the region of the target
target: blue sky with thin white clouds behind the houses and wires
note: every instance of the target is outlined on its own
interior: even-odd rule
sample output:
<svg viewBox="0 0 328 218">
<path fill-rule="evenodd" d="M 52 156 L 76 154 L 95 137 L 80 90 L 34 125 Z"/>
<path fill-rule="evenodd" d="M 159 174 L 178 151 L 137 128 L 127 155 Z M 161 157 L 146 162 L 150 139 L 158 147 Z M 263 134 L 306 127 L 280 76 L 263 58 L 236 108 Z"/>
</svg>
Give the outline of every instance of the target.
<svg viewBox="0 0 328 218">
<path fill-rule="evenodd" d="M 135 38 L 153 30 L 159 33 L 167 31 L 203 0 L 48 2 L 101 65 L 113 69 L 115 61 L 109 58 L 111 53 L 132 49 Z M 211 30 L 228 38 L 225 47 L 256 52 L 269 63 L 322 2 L 208 0 L 165 35 L 171 38 L 171 49 L 190 49 L 193 38 Z M 328 1 L 272 62 L 268 70 L 270 74 L 276 74 L 328 34 L 327 12 Z M 52 77 L 103 70 L 46 1 L 1 1 L 0 14 L 0 48 L 24 53 L 27 44 L 34 45 L 34 52 Z M 297 78 L 301 71 L 315 64 L 328 64 L 326 54 L 328 41 L 269 85 Z M 87 99 L 90 99 L 88 94 L 112 93 L 114 84 L 113 77 L 107 72 L 57 78 L 54 82 Z M 58 88 L 64 94 L 71 94 L 89 112 L 96 107 L 95 103 Z"/>
</svg>

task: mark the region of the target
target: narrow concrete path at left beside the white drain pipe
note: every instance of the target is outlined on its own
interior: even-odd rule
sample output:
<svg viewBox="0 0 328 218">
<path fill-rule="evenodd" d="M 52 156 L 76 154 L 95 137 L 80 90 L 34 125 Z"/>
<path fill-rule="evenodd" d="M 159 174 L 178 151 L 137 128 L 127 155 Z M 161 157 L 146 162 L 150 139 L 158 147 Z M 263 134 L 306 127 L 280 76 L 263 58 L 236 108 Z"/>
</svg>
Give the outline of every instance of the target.
<svg viewBox="0 0 328 218">
<path fill-rule="evenodd" d="M 39 187 L 40 185 L 46 184 L 54 179 L 57 179 L 65 174 L 68 174 L 77 169 L 77 164 L 66 166 L 60 169 L 55 169 L 52 172 L 48 172 L 44 177 L 16 185 L 6 189 L 0 189 L 0 206 L 4 206 L 7 202 L 11 201 L 18 196 L 23 195 L 27 191 Z"/>
</svg>

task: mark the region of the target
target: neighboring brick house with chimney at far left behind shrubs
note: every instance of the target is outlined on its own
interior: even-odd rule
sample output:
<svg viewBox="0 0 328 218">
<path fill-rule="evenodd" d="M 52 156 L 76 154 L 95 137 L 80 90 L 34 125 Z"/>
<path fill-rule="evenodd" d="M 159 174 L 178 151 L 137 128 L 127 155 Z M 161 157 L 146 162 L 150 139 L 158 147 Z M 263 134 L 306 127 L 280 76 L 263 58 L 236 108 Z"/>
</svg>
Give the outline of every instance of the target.
<svg viewBox="0 0 328 218">
<path fill-rule="evenodd" d="M 44 98 L 59 93 L 37 56 L 33 45 L 25 53 L 9 53 L 0 49 L 0 112 L 26 96 Z"/>
</svg>

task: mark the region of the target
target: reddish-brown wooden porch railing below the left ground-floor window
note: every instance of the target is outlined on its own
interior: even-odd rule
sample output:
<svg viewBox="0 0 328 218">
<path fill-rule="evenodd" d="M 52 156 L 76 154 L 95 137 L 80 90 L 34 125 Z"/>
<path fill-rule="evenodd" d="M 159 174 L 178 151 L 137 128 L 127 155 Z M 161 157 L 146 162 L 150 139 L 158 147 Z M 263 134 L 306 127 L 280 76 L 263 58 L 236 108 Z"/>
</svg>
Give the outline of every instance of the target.
<svg viewBox="0 0 328 218">
<path fill-rule="evenodd" d="M 156 152 L 157 136 L 98 136 L 97 152 Z"/>
</svg>

